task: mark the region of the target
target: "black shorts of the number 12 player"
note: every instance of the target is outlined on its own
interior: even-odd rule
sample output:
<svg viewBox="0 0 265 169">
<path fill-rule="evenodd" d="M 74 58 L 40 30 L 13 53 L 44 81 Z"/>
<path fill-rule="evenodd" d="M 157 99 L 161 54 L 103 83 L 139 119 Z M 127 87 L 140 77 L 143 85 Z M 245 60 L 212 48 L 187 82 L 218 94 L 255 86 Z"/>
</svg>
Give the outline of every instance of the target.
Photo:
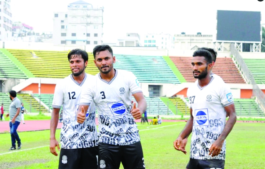
<svg viewBox="0 0 265 169">
<path fill-rule="evenodd" d="M 61 149 L 59 169 L 97 169 L 99 147 Z"/>
</svg>

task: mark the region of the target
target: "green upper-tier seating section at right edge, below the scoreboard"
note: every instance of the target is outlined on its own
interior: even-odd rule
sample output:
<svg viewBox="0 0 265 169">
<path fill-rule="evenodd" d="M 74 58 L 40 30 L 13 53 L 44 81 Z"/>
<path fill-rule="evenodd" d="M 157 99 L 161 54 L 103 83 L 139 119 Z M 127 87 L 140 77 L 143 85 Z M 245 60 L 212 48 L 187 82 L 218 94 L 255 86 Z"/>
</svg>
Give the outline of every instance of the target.
<svg viewBox="0 0 265 169">
<path fill-rule="evenodd" d="M 253 74 L 255 82 L 265 83 L 265 59 L 244 59 L 244 61 Z"/>
</svg>

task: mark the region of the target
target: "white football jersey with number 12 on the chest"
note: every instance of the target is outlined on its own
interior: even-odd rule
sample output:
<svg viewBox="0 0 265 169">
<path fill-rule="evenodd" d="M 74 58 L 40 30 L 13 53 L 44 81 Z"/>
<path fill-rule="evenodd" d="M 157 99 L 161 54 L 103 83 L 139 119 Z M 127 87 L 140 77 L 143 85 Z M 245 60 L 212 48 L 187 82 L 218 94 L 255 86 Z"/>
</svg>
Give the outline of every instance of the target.
<svg viewBox="0 0 265 169">
<path fill-rule="evenodd" d="M 70 74 L 55 86 L 52 107 L 61 108 L 63 105 L 63 125 L 60 133 L 61 148 L 76 149 L 98 146 L 95 104 L 91 103 L 83 124 L 77 122 L 76 116 L 82 86 L 91 83 L 93 77 L 93 75 L 86 74 L 79 84 Z"/>
</svg>

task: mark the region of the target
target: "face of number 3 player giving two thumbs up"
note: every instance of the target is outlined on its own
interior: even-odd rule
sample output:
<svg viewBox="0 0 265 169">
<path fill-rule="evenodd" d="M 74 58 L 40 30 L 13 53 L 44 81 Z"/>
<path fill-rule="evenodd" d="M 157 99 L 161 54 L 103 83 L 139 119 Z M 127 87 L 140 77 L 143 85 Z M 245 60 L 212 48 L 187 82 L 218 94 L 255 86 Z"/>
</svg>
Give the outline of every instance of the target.
<svg viewBox="0 0 265 169">
<path fill-rule="evenodd" d="M 115 61 L 115 56 L 112 56 L 108 50 L 105 50 L 96 54 L 94 63 L 101 73 L 108 74 L 113 69 Z"/>
</svg>

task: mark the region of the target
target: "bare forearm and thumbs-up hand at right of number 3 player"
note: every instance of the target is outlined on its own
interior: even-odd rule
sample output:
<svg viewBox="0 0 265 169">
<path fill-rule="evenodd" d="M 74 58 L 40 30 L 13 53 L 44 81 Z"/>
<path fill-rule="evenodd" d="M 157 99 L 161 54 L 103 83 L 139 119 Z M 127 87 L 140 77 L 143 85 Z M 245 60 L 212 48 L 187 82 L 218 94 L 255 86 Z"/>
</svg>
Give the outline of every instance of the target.
<svg viewBox="0 0 265 169">
<path fill-rule="evenodd" d="M 140 119 L 142 117 L 142 114 L 146 111 L 147 103 L 144 98 L 143 92 L 134 93 L 133 96 L 138 103 L 138 106 L 136 108 L 136 103 L 134 103 L 133 108 L 131 109 L 131 113 L 135 119 Z"/>
</svg>

